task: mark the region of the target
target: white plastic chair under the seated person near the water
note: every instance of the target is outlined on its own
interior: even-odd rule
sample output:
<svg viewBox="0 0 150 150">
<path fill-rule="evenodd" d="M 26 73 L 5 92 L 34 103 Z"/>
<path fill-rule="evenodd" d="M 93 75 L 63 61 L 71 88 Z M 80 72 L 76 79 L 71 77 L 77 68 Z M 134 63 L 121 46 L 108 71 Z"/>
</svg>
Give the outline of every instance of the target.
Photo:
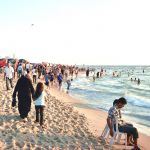
<svg viewBox="0 0 150 150">
<path fill-rule="evenodd" d="M 127 134 L 123 132 L 119 132 L 118 130 L 118 119 L 116 118 L 116 130 L 114 129 L 114 135 L 113 137 L 110 137 L 109 134 L 109 127 L 106 124 L 102 134 L 101 134 L 101 139 L 105 140 L 106 142 L 109 143 L 109 146 L 112 148 L 112 145 L 114 143 L 120 143 L 122 135 L 124 135 L 124 143 L 125 143 L 125 149 L 127 148 Z M 110 137 L 110 138 L 109 138 Z"/>
</svg>

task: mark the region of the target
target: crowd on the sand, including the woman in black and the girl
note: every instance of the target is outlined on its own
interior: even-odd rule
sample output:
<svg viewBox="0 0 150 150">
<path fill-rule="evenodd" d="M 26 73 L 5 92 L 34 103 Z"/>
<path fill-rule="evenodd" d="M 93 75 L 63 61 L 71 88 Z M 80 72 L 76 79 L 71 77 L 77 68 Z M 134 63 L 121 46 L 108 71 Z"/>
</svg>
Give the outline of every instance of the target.
<svg viewBox="0 0 150 150">
<path fill-rule="evenodd" d="M 52 65 L 46 66 L 36 64 L 31 66 L 30 63 L 19 63 L 16 70 L 8 62 L 4 68 L 4 80 L 6 81 L 6 89 L 13 88 L 13 78 L 17 72 L 17 83 L 12 95 L 12 106 L 16 106 L 16 96 L 18 96 L 18 110 L 20 117 L 27 120 L 28 113 L 31 109 L 32 99 L 35 101 L 36 120 L 43 125 L 43 112 L 45 107 L 44 84 L 47 89 L 52 86 L 61 90 L 62 82 L 67 84 L 67 93 L 69 92 L 73 76 L 78 76 L 78 68 L 75 66 Z M 38 81 L 38 82 L 37 82 Z M 33 85 L 36 85 L 36 90 Z M 39 118 L 40 117 L 40 118 Z"/>
</svg>

